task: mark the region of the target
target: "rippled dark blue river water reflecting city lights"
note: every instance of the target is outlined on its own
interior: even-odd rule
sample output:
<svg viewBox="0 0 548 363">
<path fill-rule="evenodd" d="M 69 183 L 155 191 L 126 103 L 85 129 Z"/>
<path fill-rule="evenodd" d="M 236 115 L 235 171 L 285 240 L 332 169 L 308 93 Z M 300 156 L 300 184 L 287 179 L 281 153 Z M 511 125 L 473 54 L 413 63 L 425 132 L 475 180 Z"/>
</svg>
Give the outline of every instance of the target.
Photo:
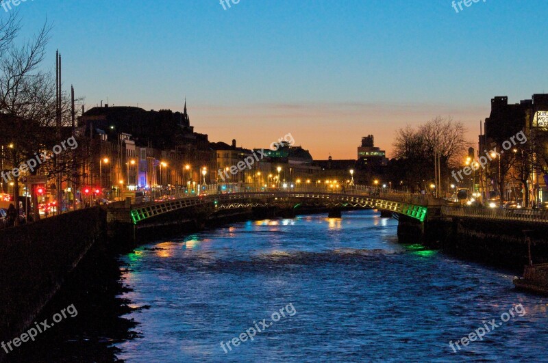
<svg viewBox="0 0 548 363">
<path fill-rule="evenodd" d="M 548 361 L 548 299 L 514 291 L 512 272 L 401 245 L 396 234 L 394 219 L 356 211 L 248 221 L 143 245 L 121 258 L 132 289 L 123 297 L 140 309 L 125 316 L 138 323 L 138 337 L 116 344 L 116 355 Z"/>
</svg>

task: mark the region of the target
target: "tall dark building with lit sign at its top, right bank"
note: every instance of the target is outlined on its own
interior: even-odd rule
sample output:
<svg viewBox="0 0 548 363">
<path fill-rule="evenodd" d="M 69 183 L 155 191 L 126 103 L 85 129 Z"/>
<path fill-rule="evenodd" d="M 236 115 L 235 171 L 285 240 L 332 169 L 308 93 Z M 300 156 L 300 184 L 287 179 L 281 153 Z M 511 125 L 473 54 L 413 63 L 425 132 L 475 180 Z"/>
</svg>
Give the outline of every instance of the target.
<svg viewBox="0 0 548 363">
<path fill-rule="evenodd" d="M 485 170 L 479 170 L 475 188 L 484 198 L 530 200 L 530 206 L 548 200 L 547 150 L 548 94 L 534 94 L 531 99 L 509 104 L 508 96 L 491 100 L 490 116 L 485 119 L 484 132 L 479 135 L 481 157 L 490 150 L 504 150 L 505 142 L 524 133 L 527 142 L 516 144 L 506 154 L 493 158 Z M 525 196 L 527 193 L 527 196 Z"/>
</svg>

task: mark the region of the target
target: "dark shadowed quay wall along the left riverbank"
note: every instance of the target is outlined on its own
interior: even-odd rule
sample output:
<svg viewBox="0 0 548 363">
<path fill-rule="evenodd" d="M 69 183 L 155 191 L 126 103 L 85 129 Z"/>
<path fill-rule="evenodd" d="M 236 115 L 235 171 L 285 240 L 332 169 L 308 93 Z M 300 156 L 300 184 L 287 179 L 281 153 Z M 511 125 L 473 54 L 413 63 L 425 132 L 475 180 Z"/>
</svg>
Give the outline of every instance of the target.
<svg viewBox="0 0 548 363">
<path fill-rule="evenodd" d="M 0 230 L 0 341 L 34 324 L 40 311 L 97 241 L 105 211 L 66 213 Z"/>
</svg>

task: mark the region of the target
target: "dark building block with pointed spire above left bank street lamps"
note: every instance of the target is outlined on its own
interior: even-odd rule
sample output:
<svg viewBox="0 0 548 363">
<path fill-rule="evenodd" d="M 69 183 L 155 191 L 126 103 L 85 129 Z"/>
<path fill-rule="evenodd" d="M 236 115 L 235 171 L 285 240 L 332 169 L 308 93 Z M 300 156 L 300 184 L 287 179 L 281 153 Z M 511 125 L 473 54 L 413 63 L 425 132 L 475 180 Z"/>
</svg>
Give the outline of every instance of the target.
<svg viewBox="0 0 548 363">
<path fill-rule="evenodd" d="M 78 126 L 97 144 L 86 183 L 113 189 L 183 186 L 203 181 L 203 170 L 206 183 L 216 180 L 216 154 L 208 135 L 190 125 L 186 101 L 182 113 L 94 107 L 78 118 Z M 103 167 L 108 176 L 102 176 Z"/>
</svg>

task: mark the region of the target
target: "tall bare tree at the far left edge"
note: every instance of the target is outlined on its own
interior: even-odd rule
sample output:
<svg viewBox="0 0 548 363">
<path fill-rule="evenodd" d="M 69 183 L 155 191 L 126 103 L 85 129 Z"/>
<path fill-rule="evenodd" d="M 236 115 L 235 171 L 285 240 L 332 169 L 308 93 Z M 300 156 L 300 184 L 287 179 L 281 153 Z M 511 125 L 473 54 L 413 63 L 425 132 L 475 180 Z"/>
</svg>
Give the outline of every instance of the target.
<svg viewBox="0 0 548 363">
<path fill-rule="evenodd" d="M 46 139 L 43 127 L 50 125 L 55 115 L 53 77 L 38 70 L 45 58 L 50 29 L 44 25 L 34 38 L 16 44 L 21 30 L 17 14 L 0 23 L 0 142 L 10 146 L 2 157 L 14 168 L 42 150 Z M 18 211 L 18 173 L 12 177 Z"/>
</svg>

